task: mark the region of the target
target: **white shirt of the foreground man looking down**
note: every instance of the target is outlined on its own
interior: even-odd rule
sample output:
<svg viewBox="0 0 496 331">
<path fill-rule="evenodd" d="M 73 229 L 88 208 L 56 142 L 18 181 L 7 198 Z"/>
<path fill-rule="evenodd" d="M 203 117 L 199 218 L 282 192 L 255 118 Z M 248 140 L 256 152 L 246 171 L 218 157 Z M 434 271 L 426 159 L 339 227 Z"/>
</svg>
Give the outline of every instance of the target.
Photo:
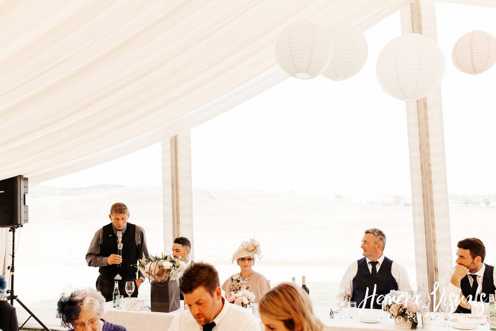
<svg viewBox="0 0 496 331">
<path fill-rule="evenodd" d="M 224 306 L 214 318 L 215 327 L 212 331 L 260 331 L 260 323 L 251 312 L 235 304 L 229 303 L 223 297 Z M 185 310 L 172 321 L 169 331 L 202 331 L 203 327 L 196 322 L 189 310 Z"/>
</svg>

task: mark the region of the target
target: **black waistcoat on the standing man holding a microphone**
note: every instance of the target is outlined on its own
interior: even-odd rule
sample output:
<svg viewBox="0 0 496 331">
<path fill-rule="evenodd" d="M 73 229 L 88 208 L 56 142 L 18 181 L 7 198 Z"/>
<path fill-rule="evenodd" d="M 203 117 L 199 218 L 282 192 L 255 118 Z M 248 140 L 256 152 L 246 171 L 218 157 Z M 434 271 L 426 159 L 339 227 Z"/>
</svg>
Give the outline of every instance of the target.
<svg viewBox="0 0 496 331">
<path fill-rule="evenodd" d="M 136 246 L 136 225 L 127 223 L 123 233 L 123 262 L 121 267 L 117 265 L 101 266 L 98 270 L 105 278 L 112 280 L 119 273 L 123 280 L 136 279 L 136 263 L 138 261 L 138 247 Z M 101 256 L 117 254 L 117 235 L 114 233 L 112 223 L 103 227 Z"/>
</svg>

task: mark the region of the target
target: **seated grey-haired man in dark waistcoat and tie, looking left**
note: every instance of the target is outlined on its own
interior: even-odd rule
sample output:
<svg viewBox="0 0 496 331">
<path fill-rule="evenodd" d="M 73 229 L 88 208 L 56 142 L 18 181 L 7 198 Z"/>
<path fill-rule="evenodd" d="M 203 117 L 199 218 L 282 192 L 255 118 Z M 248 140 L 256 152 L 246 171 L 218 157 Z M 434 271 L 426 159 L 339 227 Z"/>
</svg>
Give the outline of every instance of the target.
<svg viewBox="0 0 496 331">
<path fill-rule="evenodd" d="M 355 301 L 357 307 L 382 309 L 384 295 L 391 290 L 410 291 L 410 281 L 403 266 L 384 256 L 386 235 L 379 229 L 365 230 L 362 238 L 364 258 L 346 270 L 339 288 Z"/>
</svg>

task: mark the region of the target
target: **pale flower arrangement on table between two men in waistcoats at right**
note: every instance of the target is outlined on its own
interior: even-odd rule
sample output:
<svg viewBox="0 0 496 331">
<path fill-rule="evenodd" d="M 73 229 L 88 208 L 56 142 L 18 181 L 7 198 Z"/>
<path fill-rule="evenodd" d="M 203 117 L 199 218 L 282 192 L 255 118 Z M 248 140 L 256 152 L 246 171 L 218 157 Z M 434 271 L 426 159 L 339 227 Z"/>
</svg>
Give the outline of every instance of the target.
<svg viewBox="0 0 496 331">
<path fill-rule="evenodd" d="M 394 319 L 397 329 L 415 329 L 418 325 L 417 314 L 423 308 L 417 302 L 416 294 L 391 290 L 382 302 L 382 310 Z"/>
</svg>

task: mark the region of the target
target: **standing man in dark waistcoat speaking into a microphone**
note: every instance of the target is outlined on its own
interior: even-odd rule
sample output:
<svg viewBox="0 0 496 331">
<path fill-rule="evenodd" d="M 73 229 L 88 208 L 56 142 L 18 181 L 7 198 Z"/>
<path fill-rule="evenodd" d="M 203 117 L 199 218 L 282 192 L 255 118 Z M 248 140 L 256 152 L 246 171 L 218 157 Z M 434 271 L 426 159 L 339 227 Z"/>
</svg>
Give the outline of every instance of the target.
<svg viewBox="0 0 496 331">
<path fill-rule="evenodd" d="M 110 208 L 111 223 L 100 228 L 91 241 L 86 263 L 99 267 L 100 275 L 96 280 L 96 289 L 102 292 L 106 301 L 112 301 L 114 284 L 119 283 L 119 292 L 125 292 L 126 281 L 135 281 L 132 297 L 138 296 L 138 287 L 144 276 L 139 273 L 136 278 L 137 261 L 143 254 L 148 258 L 145 232 L 142 227 L 128 223 L 129 210 L 124 203 L 117 202 Z M 118 242 L 123 244 L 122 256 L 118 255 Z"/>
</svg>

